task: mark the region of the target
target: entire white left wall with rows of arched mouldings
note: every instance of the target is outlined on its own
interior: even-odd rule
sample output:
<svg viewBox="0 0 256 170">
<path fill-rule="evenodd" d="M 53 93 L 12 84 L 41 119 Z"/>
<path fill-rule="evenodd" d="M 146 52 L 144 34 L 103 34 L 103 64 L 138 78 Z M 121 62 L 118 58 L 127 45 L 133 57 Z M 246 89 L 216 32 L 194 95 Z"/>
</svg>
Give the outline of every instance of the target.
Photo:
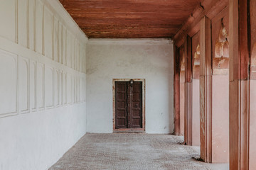
<svg viewBox="0 0 256 170">
<path fill-rule="evenodd" d="M 48 169 L 86 132 L 87 37 L 58 0 L 1 0 L 0 23 L 0 169 Z"/>
</svg>

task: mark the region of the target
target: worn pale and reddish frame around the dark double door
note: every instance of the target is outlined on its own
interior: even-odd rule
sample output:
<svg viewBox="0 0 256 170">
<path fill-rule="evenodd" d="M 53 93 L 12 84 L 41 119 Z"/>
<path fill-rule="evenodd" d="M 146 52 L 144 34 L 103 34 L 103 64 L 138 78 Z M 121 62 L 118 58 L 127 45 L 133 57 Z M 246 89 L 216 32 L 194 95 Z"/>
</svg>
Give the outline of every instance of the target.
<svg viewBox="0 0 256 170">
<path fill-rule="evenodd" d="M 130 81 L 131 79 L 113 79 L 112 80 L 112 94 L 113 94 L 113 131 L 114 132 L 139 132 L 145 131 L 145 87 L 146 80 L 145 79 L 132 79 L 133 81 L 141 81 L 142 82 L 142 128 L 126 128 L 126 129 L 116 129 L 115 128 L 115 82 L 117 81 Z"/>
</svg>

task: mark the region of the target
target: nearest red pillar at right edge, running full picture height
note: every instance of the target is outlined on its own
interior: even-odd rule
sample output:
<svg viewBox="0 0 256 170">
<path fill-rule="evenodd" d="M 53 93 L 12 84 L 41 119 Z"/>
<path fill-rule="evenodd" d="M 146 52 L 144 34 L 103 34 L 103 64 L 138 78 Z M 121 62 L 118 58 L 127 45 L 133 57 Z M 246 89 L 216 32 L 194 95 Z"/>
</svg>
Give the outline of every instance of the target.
<svg viewBox="0 0 256 170">
<path fill-rule="evenodd" d="M 230 169 L 256 169 L 254 0 L 230 0 Z"/>
</svg>

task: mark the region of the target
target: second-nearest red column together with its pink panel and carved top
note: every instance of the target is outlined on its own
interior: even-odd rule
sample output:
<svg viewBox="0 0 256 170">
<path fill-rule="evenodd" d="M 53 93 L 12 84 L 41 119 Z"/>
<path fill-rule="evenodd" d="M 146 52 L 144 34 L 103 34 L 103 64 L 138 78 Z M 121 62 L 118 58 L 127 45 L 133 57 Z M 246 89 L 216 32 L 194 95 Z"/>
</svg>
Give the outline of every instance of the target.
<svg viewBox="0 0 256 170">
<path fill-rule="evenodd" d="M 186 52 L 186 89 L 185 89 L 185 142 L 186 145 L 200 145 L 200 94 L 199 32 L 187 37 Z M 193 69 L 192 69 L 193 67 Z"/>
</svg>

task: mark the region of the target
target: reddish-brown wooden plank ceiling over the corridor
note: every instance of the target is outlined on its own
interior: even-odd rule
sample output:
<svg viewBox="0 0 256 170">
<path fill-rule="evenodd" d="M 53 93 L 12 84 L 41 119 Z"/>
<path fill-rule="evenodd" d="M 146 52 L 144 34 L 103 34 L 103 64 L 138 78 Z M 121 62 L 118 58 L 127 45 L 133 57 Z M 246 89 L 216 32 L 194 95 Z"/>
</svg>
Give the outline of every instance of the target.
<svg viewBox="0 0 256 170">
<path fill-rule="evenodd" d="M 88 38 L 172 38 L 201 0 L 60 0 Z"/>
</svg>

